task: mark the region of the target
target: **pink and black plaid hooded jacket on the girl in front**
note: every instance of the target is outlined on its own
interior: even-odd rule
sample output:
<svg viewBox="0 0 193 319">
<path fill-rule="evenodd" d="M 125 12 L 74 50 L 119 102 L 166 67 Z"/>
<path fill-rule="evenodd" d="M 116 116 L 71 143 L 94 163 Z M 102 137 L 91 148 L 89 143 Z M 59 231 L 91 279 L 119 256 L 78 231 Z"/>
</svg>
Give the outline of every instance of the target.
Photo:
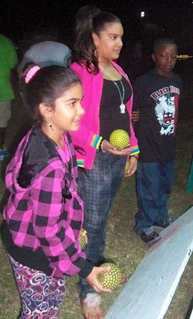
<svg viewBox="0 0 193 319">
<path fill-rule="evenodd" d="M 85 268 L 87 277 L 93 265 L 85 260 L 78 241 L 83 224 L 83 202 L 76 182 L 76 155 L 72 141 L 68 140 L 70 135 L 64 138 L 69 147 L 69 162 L 65 161 L 63 151 L 38 127 L 32 128 L 23 138 L 6 169 L 5 183 L 10 196 L 3 218 L 16 247 L 43 251 L 52 269 L 51 276 L 73 276 L 81 273 L 82 268 L 84 273 Z M 18 184 L 22 160 L 27 160 L 30 168 L 27 174 L 31 174 L 31 181 L 25 188 Z M 64 198 L 65 183 L 71 199 Z"/>
</svg>

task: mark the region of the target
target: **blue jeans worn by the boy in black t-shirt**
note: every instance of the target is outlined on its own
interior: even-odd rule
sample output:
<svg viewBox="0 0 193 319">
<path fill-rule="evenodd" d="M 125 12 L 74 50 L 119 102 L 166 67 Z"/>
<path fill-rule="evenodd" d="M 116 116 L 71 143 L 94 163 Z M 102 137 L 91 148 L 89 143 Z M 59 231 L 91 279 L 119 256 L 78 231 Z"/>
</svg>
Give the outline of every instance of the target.
<svg viewBox="0 0 193 319">
<path fill-rule="evenodd" d="M 174 179 L 174 161 L 162 165 L 160 162 L 138 163 L 136 192 L 138 213 L 135 215 L 134 231 L 140 234 L 155 221 L 169 218 L 167 202 Z"/>
</svg>

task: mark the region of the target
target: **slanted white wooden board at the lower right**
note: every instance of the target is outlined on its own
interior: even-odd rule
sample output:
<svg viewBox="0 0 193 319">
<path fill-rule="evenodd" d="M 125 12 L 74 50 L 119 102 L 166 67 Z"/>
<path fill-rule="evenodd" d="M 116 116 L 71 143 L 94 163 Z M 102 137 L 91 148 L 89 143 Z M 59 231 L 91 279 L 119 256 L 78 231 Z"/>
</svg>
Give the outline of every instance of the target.
<svg viewBox="0 0 193 319">
<path fill-rule="evenodd" d="M 105 319 L 163 318 L 193 251 L 193 207 L 164 229 L 161 236 Z"/>
</svg>

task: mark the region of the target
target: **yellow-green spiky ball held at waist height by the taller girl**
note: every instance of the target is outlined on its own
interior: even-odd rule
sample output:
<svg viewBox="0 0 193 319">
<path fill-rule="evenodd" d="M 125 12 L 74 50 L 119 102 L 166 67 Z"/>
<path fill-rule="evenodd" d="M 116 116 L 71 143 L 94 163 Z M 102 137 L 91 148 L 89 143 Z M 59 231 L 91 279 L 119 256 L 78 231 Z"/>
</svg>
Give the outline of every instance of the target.
<svg viewBox="0 0 193 319">
<path fill-rule="evenodd" d="M 117 150 L 122 150 L 129 144 L 129 135 L 124 130 L 115 130 L 111 133 L 109 142 L 115 146 Z"/>
</svg>

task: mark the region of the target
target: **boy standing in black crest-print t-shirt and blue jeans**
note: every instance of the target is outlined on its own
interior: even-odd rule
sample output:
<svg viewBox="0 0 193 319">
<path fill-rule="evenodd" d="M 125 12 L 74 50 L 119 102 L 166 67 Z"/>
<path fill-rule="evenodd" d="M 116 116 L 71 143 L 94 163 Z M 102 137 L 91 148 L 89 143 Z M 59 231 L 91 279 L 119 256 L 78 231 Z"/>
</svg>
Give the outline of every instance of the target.
<svg viewBox="0 0 193 319">
<path fill-rule="evenodd" d="M 148 244 L 161 239 L 153 226 L 166 228 L 173 221 L 167 202 L 174 177 L 178 99 L 182 91 L 180 76 L 172 72 L 177 60 L 174 40 L 158 39 L 152 59 L 155 69 L 139 77 L 134 88 L 134 110 L 140 112 L 136 126 L 140 153 L 134 231 Z"/>
</svg>

